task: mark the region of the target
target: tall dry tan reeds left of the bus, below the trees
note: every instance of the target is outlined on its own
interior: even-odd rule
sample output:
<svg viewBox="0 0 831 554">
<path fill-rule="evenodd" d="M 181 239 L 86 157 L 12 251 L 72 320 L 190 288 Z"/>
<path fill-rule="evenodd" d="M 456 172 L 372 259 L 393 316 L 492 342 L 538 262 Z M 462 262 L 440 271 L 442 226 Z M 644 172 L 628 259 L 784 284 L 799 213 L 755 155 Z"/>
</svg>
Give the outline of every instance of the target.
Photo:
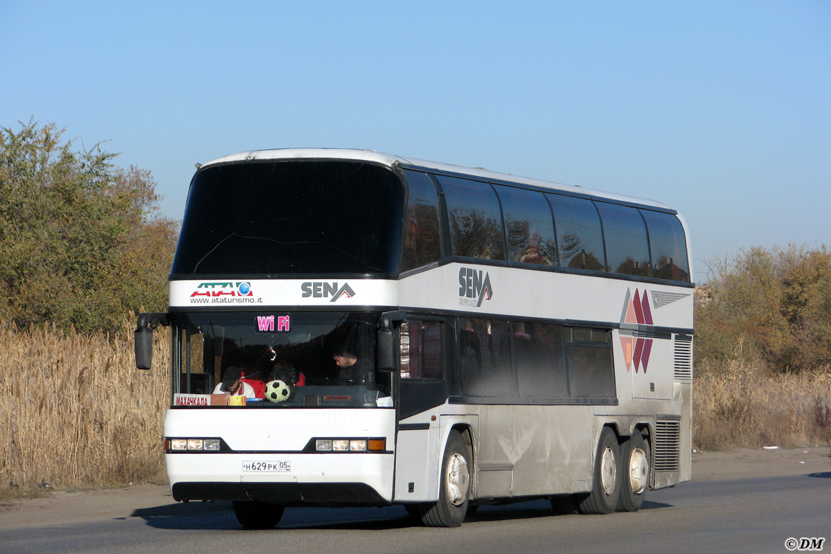
<svg viewBox="0 0 831 554">
<path fill-rule="evenodd" d="M 18 330 L 0 321 L 0 490 L 163 482 L 168 331 L 135 369 L 133 321 L 118 336 Z"/>
</svg>

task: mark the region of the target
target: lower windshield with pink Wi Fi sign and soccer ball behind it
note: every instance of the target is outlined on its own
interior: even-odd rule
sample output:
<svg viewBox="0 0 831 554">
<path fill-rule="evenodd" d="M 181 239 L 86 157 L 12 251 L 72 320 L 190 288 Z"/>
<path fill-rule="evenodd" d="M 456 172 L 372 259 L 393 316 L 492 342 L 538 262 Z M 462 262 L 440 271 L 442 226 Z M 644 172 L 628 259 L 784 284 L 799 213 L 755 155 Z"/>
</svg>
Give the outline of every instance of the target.
<svg viewBox="0 0 831 554">
<path fill-rule="evenodd" d="M 379 316 L 332 311 L 178 314 L 175 341 L 182 356 L 174 371 L 179 392 L 227 393 L 234 382 L 227 376 L 238 371 L 244 385 L 237 394 L 247 393 L 248 404 L 262 399 L 262 405 L 281 407 L 392 405 L 390 376 L 376 372 Z M 276 380 L 285 390 L 269 398 L 275 385 L 268 383 Z"/>
</svg>

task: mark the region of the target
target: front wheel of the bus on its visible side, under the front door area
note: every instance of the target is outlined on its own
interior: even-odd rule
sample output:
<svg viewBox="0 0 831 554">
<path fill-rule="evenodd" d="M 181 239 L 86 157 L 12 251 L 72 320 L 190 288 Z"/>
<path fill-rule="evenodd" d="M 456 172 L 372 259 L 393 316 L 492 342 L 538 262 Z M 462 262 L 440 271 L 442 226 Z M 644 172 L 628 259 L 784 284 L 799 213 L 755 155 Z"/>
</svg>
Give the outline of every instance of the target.
<svg viewBox="0 0 831 554">
<path fill-rule="evenodd" d="M 459 431 L 450 431 L 441 462 L 439 501 L 421 515 L 426 527 L 459 527 L 470 500 L 470 453 Z"/>
</svg>

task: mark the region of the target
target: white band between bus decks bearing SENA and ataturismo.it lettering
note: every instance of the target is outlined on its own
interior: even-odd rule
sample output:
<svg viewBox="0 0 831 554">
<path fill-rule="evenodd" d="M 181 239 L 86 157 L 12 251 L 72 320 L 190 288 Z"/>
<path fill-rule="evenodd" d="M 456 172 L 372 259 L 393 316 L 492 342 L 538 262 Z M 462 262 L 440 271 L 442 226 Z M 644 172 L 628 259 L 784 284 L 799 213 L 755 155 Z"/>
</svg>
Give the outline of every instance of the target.
<svg viewBox="0 0 831 554">
<path fill-rule="evenodd" d="M 490 295 L 469 295 L 470 282 L 462 272 L 481 272 L 491 284 Z M 289 307 L 401 306 L 435 310 L 464 311 L 470 314 L 538 317 L 541 319 L 602 321 L 618 323 L 625 310 L 627 293 L 658 292 L 671 302 L 659 304 L 652 312 L 656 326 L 691 328 L 692 289 L 653 283 L 632 283 L 624 279 L 593 277 L 558 272 L 530 272 L 512 267 L 449 263 L 419 272 L 400 281 L 384 279 L 340 279 L 315 287 L 317 282 L 302 279 L 248 280 L 248 295 L 238 294 L 238 280 L 204 279 L 170 282 L 170 306 L 219 307 L 262 306 L 263 310 Z M 331 292 L 348 285 L 352 294 Z M 312 291 L 312 294 L 309 294 Z M 688 291 L 688 292 L 687 292 Z M 429 302 L 425 302 L 429 300 Z M 655 301 L 653 301 L 655 302 Z"/>
</svg>

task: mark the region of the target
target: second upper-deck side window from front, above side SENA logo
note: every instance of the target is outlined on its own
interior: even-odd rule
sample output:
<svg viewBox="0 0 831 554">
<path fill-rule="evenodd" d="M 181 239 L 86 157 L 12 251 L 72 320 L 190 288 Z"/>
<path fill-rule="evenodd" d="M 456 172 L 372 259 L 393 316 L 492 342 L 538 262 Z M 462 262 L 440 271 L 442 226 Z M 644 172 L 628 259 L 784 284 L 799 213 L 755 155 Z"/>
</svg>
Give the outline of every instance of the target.
<svg viewBox="0 0 831 554">
<path fill-rule="evenodd" d="M 453 256 L 504 260 L 502 213 L 490 184 L 438 177 L 445 192 Z"/>
</svg>

